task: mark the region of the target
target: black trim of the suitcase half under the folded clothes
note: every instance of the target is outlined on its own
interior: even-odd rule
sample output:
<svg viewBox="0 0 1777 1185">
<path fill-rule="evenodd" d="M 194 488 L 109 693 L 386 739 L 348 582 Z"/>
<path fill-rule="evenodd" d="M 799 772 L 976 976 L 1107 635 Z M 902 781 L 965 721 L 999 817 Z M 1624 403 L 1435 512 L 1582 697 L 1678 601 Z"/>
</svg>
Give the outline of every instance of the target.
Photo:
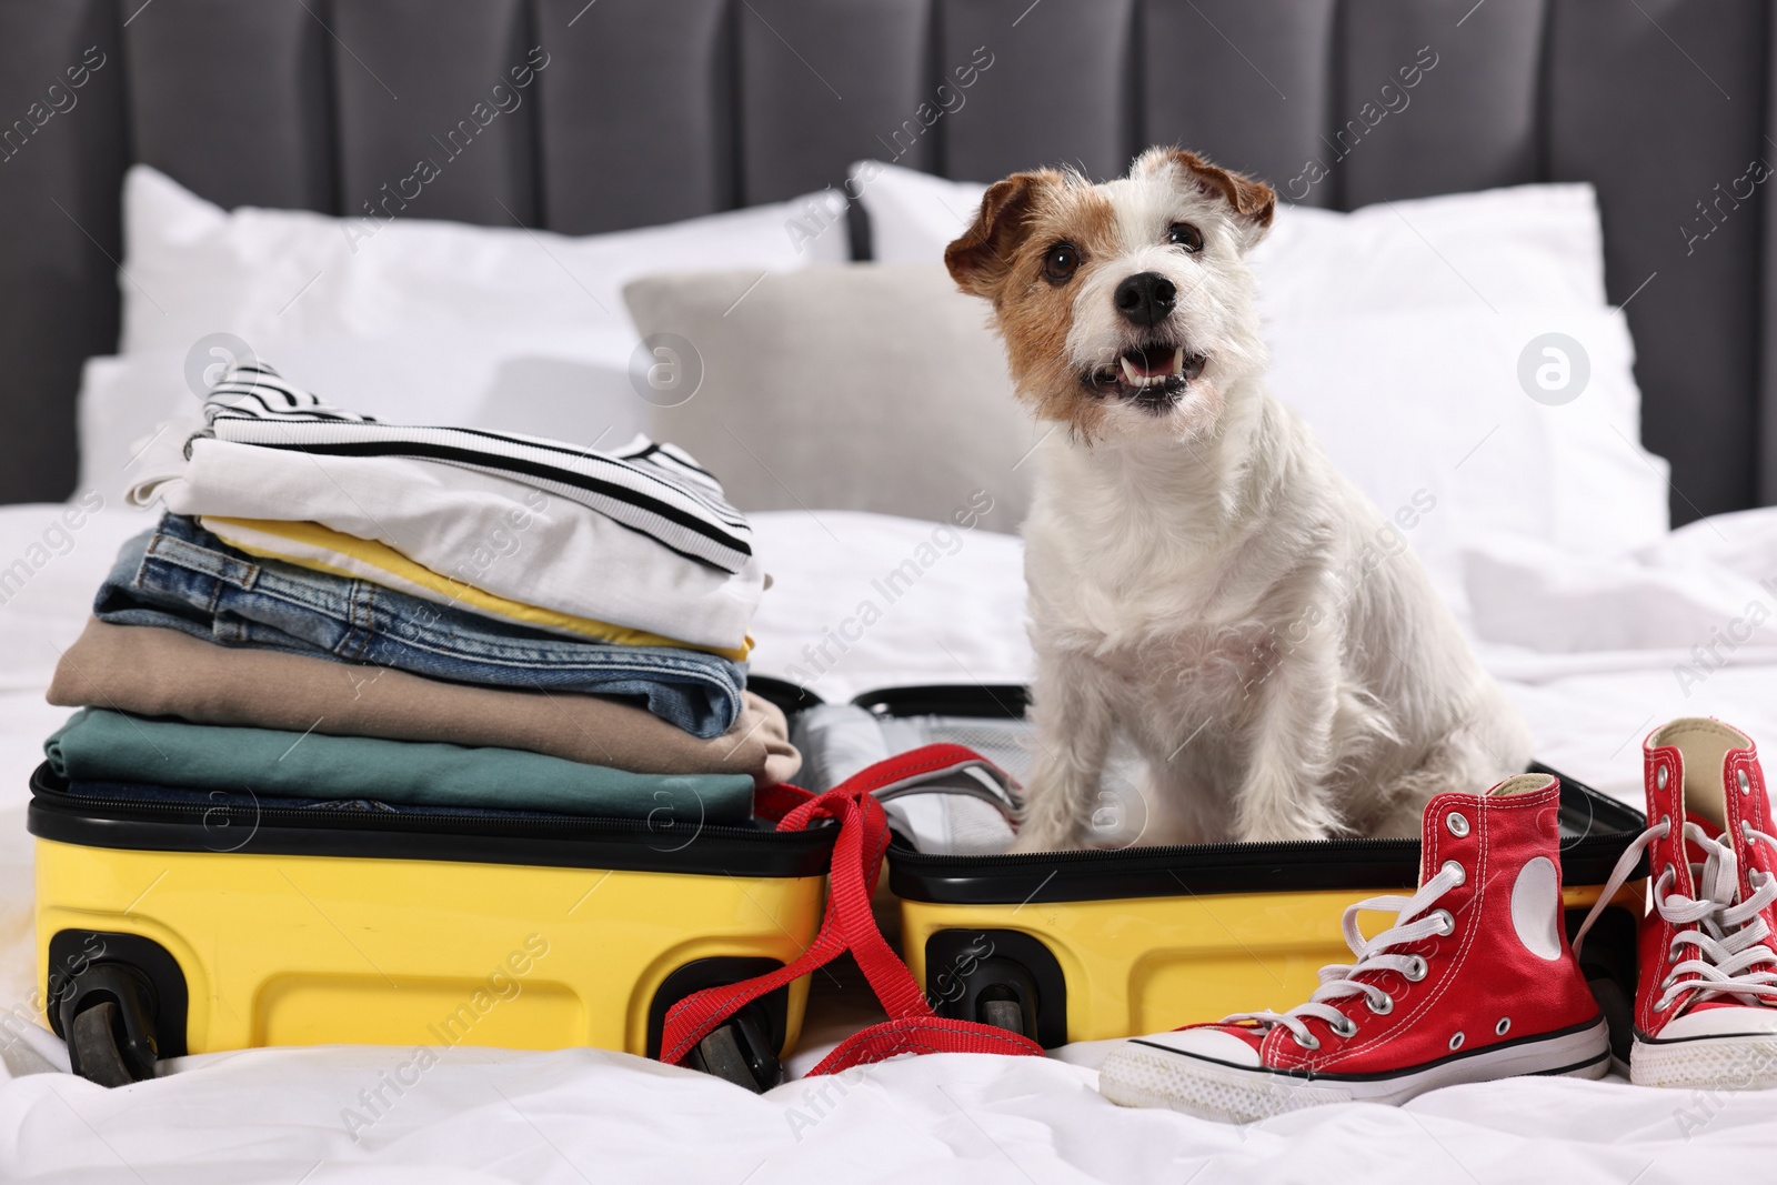
<svg viewBox="0 0 1777 1185">
<path fill-rule="evenodd" d="M 124 851 L 442 860 L 691 876 L 825 876 L 839 828 L 704 826 L 691 837 L 627 819 L 533 812 L 329 812 L 249 803 L 160 803 L 68 792 L 48 764 L 30 778 L 27 830 Z"/>
</svg>

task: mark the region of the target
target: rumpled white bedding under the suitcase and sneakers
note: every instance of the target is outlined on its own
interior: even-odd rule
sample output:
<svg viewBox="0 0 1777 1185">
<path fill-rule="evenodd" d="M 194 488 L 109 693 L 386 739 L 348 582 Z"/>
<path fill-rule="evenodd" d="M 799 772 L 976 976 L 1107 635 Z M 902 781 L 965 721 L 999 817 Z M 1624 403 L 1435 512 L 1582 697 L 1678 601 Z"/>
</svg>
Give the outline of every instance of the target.
<svg viewBox="0 0 1777 1185">
<path fill-rule="evenodd" d="M 0 1007 L 16 1014 L 34 979 L 25 783 L 66 714 L 43 704 L 43 688 L 117 544 L 151 521 L 107 505 L 80 529 L 57 531 L 60 512 L 0 508 L 0 569 L 14 558 L 32 569 L 0 604 Z M 755 627 L 757 672 L 812 679 L 828 700 L 888 684 L 1025 679 L 1015 538 L 826 512 L 755 524 L 777 579 Z M 890 599 L 883 581 L 906 561 L 919 574 Z M 1462 616 L 1484 659 L 1530 718 L 1539 757 L 1558 769 L 1635 801 L 1640 737 L 1677 714 L 1718 714 L 1777 746 L 1777 634 L 1750 624 L 1777 609 L 1777 510 L 1695 524 L 1610 560 L 1493 540 L 1445 558 L 1438 576 L 1466 593 Z M 878 615 L 862 613 L 865 600 Z M 1692 652 L 1711 641 L 1718 670 Z M 1717 666 L 1708 650 L 1701 657 Z M 1679 664 L 1692 675 L 1677 675 Z M 817 977 L 793 1070 L 864 1018 L 855 993 Z M 753 1098 L 626 1055 L 455 1048 L 355 1141 L 343 1110 L 407 1052 L 190 1057 L 158 1082 L 110 1093 L 30 1073 L 0 1082 L 0 1180 L 1651 1185 L 1693 1180 L 1699 1165 L 1711 1178 L 1768 1180 L 1777 1157 L 1772 1094 L 1510 1080 L 1404 1109 L 1333 1107 L 1228 1128 L 1111 1107 L 1093 1091 L 1096 1055 L 935 1055 Z M 5 1061 L 12 1073 L 41 1064 L 20 1043 Z"/>
</svg>

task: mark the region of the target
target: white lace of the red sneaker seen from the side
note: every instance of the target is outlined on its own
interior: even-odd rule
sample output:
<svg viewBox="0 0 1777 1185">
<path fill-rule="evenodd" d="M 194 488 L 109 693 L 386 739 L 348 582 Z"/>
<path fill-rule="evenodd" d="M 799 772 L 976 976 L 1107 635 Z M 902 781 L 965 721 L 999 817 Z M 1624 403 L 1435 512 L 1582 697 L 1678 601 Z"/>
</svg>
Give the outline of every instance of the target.
<svg viewBox="0 0 1777 1185">
<path fill-rule="evenodd" d="M 1343 1011 L 1333 1007 L 1331 1000 L 1345 1000 L 1351 997 L 1363 997 L 1365 1006 L 1377 1014 L 1386 1016 L 1395 1011 L 1395 997 L 1388 995 L 1372 982 L 1363 982 L 1358 975 L 1372 972 L 1398 972 L 1407 982 L 1418 982 L 1425 979 L 1425 959 L 1418 954 L 1395 954 L 1390 947 L 1406 947 L 1414 942 L 1430 938 L 1432 934 L 1448 934 L 1455 929 L 1455 919 L 1450 917 L 1448 910 L 1436 910 L 1425 913 L 1439 897 L 1455 888 L 1466 879 L 1462 865 L 1450 860 L 1438 871 L 1438 876 L 1425 881 L 1420 892 L 1411 897 L 1368 897 L 1354 906 L 1345 908 L 1345 945 L 1351 952 L 1358 956 L 1356 963 L 1331 963 L 1320 968 L 1320 986 L 1315 993 L 1308 997 L 1308 1004 L 1299 1004 L 1288 1013 L 1235 1013 L 1233 1016 L 1224 1016 L 1221 1023 L 1231 1025 L 1240 1022 L 1256 1022 L 1267 1029 L 1272 1025 L 1281 1025 L 1288 1029 L 1290 1036 L 1304 1050 L 1320 1048 L 1320 1038 L 1308 1030 L 1304 1018 L 1324 1020 L 1333 1025 L 1333 1032 L 1342 1038 L 1349 1038 L 1358 1032 L 1358 1022 L 1347 1016 Z M 1772 892 L 1777 892 L 1773 885 Z M 1397 910 L 1395 924 L 1384 929 L 1375 938 L 1365 938 L 1358 929 L 1358 915 L 1367 910 Z M 1423 915 L 1423 917 L 1422 917 Z"/>
</svg>

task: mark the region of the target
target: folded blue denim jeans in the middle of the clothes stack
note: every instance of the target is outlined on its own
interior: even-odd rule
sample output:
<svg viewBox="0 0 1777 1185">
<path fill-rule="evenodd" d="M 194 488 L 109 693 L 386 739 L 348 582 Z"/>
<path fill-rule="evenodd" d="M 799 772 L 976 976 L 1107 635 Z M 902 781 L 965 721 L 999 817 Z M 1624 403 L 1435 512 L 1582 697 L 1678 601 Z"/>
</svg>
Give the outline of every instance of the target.
<svg viewBox="0 0 1777 1185">
<path fill-rule="evenodd" d="M 546 634 L 370 581 L 259 560 L 171 513 L 123 545 L 92 613 L 224 647 L 631 700 L 698 737 L 729 730 L 746 686 L 746 668 L 716 654 Z"/>
</svg>

